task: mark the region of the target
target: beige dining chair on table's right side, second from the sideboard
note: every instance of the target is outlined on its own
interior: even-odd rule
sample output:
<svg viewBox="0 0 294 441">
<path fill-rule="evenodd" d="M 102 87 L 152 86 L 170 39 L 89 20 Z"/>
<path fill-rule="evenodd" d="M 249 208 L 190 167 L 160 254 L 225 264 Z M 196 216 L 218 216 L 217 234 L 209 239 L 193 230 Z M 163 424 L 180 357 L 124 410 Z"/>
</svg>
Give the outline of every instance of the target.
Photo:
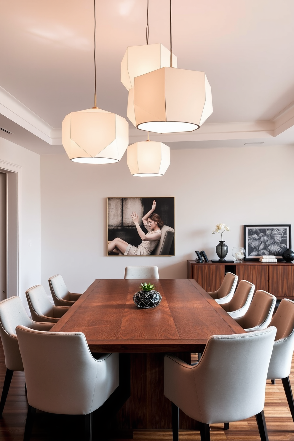
<svg viewBox="0 0 294 441">
<path fill-rule="evenodd" d="M 231 317 L 242 317 L 248 311 L 253 298 L 255 285 L 247 280 L 240 280 L 233 297 L 228 303 L 222 303 L 221 306 Z"/>
</svg>

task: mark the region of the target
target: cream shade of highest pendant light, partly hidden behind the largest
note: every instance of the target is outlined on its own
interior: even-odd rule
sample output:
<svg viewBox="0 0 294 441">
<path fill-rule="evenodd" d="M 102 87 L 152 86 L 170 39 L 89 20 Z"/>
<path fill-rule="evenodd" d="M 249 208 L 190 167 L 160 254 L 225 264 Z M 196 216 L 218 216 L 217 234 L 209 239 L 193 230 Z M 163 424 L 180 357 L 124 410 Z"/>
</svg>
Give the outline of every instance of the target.
<svg viewBox="0 0 294 441">
<path fill-rule="evenodd" d="M 172 54 L 172 65 L 177 67 L 177 57 Z M 121 63 L 120 81 L 127 90 L 134 87 L 134 78 L 164 66 L 170 66 L 171 52 L 161 43 L 129 46 Z"/>
</svg>

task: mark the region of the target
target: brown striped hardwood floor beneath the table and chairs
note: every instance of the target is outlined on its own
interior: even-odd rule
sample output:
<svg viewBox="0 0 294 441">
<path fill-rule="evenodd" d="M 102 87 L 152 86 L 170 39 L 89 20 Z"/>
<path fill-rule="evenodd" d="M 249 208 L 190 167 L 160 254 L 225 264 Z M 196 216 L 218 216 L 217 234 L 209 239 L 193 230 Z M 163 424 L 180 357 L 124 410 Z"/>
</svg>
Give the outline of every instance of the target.
<svg viewBox="0 0 294 441">
<path fill-rule="evenodd" d="M 5 363 L 2 346 L 0 344 L 0 393 L 5 375 Z M 294 359 L 290 381 L 294 386 Z M 0 440 L 21 441 L 26 422 L 26 393 L 25 377 L 23 372 L 15 372 L 11 381 L 10 390 L 4 407 L 3 417 L 0 419 Z M 293 389 L 293 388 L 292 388 Z M 275 385 L 267 382 L 265 394 L 264 414 L 268 427 L 269 441 L 294 441 L 294 422 L 287 406 L 286 396 L 281 380 Z M 83 421 L 77 416 L 49 415 L 37 412 L 33 427 L 32 441 L 75 441 L 82 440 Z M 93 440 L 98 439 L 99 427 L 93 429 Z M 223 425 L 211 425 L 211 441 L 260 441 L 255 418 L 230 423 L 229 430 L 223 430 Z M 102 440 L 104 437 L 99 436 Z M 133 439 L 141 441 L 172 440 L 171 430 L 134 430 Z M 182 430 L 180 440 L 200 440 L 199 432 Z"/>
</svg>

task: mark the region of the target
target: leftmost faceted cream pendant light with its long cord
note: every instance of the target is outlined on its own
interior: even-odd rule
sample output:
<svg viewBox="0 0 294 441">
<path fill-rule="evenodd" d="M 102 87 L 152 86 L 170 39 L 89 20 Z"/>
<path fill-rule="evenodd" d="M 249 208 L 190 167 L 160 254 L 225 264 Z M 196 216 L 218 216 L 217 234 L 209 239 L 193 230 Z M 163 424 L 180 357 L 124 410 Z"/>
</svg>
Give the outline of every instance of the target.
<svg viewBox="0 0 294 441">
<path fill-rule="evenodd" d="M 129 143 L 127 120 L 96 107 L 96 0 L 94 0 L 94 107 L 69 113 L 62 122 L 62 144 L 71 161 L 118 162 Z"/>
</svg>

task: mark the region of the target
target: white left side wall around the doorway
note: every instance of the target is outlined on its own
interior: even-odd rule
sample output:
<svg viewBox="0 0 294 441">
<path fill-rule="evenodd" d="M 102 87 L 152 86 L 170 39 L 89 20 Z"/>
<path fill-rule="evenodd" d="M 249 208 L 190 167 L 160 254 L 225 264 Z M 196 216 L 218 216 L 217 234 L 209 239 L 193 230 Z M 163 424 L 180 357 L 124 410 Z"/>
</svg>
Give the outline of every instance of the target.
<svg viewBox="0 0 294 441">
<path fill-rule="evenodd" d="M 19 296 L 27 305 L 26 289 L 41 283 L 40 156 L 0 138 L 0 161 L 2 168 L 5 168 L 5 163 L 7 168 L 10 164 L 20 168 Z"/>
</svg>

